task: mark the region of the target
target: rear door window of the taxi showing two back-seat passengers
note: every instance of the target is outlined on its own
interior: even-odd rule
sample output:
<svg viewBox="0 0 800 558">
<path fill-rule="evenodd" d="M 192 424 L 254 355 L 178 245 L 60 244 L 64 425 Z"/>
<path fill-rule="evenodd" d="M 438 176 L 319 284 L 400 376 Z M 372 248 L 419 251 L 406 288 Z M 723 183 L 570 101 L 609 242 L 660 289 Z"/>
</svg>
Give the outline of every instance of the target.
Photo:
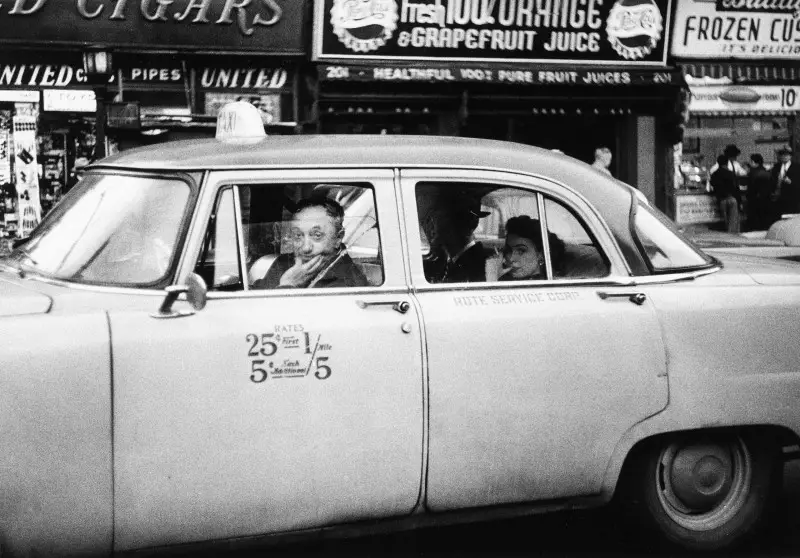
<svg viewBox="0 0 800 558">
<path fill-rule="evenodd" d="M 609 273 L 608 259 L 577 214 L 535 191 L 420 182 L 416 199 L 428 283 L 583 279 Z"/>
</svg>

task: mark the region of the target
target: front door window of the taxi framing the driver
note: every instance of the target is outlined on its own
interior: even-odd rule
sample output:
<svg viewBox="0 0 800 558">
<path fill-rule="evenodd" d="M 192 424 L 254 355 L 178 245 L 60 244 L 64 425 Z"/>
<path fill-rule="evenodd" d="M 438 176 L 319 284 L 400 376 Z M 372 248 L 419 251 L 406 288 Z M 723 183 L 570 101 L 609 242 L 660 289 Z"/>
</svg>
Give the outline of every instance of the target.
<svg viewBox="0 0 800 558">
<path fill-rule="evenodd" d="M 383 284 L 371 185 L 247 184 L 230 191 L 217 200 L 197 263 L 212 289 Z"/>
</svg>

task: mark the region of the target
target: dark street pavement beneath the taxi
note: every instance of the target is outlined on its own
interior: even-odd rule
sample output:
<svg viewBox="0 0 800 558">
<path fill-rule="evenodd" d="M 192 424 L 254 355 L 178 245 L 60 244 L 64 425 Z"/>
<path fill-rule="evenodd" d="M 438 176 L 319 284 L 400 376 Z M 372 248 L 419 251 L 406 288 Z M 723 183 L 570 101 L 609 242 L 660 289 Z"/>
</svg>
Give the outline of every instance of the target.
<svg viewBox="0 0 800 558">
<path fill-rule="evenodd" d="M 781 512 L 769 536 L 724 556 L 800 556 L 800 461 L 787 464 Z M 221 556 L 223 554 L 216 554 Z M 659 540 L 645 538 L 612 508 L 560 512 L 514 520 L 429 528 L 395 535 L 294 544 L 280 549 L 230 552 L 234 558 L 680 558 Z"/>
</svg>

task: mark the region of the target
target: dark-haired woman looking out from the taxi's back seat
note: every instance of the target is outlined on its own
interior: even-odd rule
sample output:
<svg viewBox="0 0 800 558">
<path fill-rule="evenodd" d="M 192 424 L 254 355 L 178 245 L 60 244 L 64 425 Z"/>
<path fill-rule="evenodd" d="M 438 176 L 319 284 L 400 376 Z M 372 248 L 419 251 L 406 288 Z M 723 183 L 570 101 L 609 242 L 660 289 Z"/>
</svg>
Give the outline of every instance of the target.
<svg viewBox="0 0 800 558">
<path fill-rule="evenodd" d="M 564 254 L 564 243 L 553 233 L 548 234 L 550 256 L 556 268 Z M 554 275 L 557 273 L 554 270 Z M 546 279 L 544 246 L 538 219 L 527 215 L 512 217 L 506 222 L 506 245 L 503 248 L 503 268 L 500 281 Z"/>
</svg>

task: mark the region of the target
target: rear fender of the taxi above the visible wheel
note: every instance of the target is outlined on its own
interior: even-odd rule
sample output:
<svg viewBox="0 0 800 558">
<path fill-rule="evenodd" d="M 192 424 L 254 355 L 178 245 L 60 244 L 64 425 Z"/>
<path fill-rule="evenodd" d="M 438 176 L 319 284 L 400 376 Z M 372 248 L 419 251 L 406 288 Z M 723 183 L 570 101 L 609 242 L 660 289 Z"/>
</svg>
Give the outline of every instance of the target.
<svg viewBox="0 0 800 558">
<path fill-rule="evenodd" d="M 613 492 L 631 448 L 655 435 L 774 426 L 800 437 L 800 289 L 741 278 L 727 287 L 699 278 L 691 291 L 684 284 L 652 293 L 667 347 L 669 403 L 619 441 L 604 492 Z"/>
</svg>

